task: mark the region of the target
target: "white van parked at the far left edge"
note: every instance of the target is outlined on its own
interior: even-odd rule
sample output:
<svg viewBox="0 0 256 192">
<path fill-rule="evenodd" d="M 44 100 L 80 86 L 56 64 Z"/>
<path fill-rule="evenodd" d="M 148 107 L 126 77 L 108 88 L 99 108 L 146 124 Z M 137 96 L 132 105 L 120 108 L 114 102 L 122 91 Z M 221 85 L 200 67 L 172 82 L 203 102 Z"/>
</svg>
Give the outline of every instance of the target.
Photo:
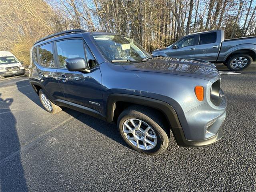
<svg viewBox="0 0 256 192">
<path fill-rule="evenodd" d="M 0 77 L 23 75 L 25 68 L 22 62 L 9 51 L 0 51 Z"/>
</svg>

